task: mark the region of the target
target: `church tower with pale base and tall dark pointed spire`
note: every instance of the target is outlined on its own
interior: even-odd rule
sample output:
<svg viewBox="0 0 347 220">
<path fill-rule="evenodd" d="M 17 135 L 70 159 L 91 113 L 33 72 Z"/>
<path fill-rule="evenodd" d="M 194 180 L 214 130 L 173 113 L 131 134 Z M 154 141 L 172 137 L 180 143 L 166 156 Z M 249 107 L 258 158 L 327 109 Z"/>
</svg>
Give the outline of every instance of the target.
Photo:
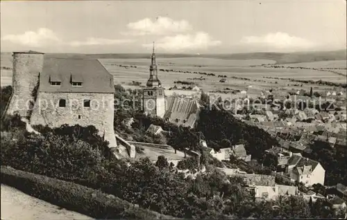
<svg viewBox="0 0 347 220">
<path fill-rule="evenodd" d="M 165 96 L 162 84 L 158 79 L 158 66 L 155 63 L 155 51 L 153 42 L 153 53 L 151 56 L 151 66 L 149 67 L 149 80 L 143 94 L 143 107 L 146 113 L 152 116 L 164 117 Z"/>
</svg>

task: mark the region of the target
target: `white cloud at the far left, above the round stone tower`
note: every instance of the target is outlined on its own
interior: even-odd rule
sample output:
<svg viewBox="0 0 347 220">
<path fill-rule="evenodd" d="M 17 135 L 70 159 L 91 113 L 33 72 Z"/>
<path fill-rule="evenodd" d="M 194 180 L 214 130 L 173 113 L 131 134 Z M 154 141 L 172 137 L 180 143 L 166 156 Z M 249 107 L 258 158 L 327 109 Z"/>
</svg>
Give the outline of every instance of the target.
<svg viewBox="0 0 347 220">
<path fill-rule="evenodd" d="M 20 35 L 5 35 L 2 40 L 25 46 L 43 46 L 50 42 L 60 42 L 56 33 L 47 28 L 39 28 L 35 31 L 26 31 Z"/>
</svg>

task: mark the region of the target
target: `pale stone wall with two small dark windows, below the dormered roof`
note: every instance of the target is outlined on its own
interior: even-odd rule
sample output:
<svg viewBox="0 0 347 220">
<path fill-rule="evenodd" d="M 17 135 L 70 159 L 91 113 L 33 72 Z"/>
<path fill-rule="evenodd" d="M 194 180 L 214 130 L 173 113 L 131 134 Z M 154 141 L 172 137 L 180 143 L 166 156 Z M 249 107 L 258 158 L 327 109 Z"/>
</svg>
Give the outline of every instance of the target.
<svg viewBox="0 0 347 220">
<path fill-rule="evenodd" d="M 66 106 L 59 107 L 59 100 L 65 99 Z M 83 100 L 90 100 L 90 107 L 84 107 Z M 39 92 L 31 115 L 31 125 L 94 125 L 99 134 L 117 147 L 114 122 L 113 93 L 45 93 Z"/>
</svg>

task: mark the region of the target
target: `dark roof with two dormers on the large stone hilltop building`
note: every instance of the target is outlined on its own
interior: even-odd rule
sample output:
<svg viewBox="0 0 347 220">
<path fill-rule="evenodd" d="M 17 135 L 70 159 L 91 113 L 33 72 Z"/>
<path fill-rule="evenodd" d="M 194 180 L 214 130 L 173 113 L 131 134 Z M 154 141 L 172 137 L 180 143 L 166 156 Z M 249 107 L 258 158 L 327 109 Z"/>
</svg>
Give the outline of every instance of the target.
<svg viewBox="0 0 347 220">
<path fill-rule="evenodd" d="M 51 85 L 60 82 L 60 85 Z M 72 82 L 82 83 L 73 86 Z M 41 92 L 114 93 L 113 76 L 97 59 L 44 57 Z"/>
</svg>

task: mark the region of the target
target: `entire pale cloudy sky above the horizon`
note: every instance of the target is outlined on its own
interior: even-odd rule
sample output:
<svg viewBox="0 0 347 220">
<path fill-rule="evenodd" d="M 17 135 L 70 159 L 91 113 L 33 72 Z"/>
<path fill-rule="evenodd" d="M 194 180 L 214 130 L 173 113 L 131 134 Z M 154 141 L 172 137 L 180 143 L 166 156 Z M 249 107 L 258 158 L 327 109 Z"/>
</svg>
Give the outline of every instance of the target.
<svg viewBox="0 0 347 220">
<path fill-rule="evenodd" d="M 346 48 L 346 1 L 1 1 L 1 51 L 246 53 Z"/>
</svg>

